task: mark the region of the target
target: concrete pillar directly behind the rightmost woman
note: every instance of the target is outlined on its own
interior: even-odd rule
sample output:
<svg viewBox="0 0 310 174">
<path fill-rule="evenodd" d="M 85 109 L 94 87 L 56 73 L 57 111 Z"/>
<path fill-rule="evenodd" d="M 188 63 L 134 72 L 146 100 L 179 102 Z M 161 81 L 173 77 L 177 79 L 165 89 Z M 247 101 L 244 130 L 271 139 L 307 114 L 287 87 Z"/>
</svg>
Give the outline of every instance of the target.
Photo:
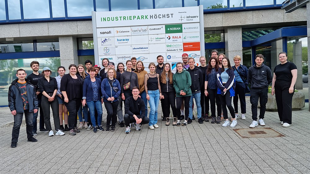
<svg viewBox="0 0 310 174">
<path fill-rule="evenodd" d="M 303 64 L 301 52 L 301 41 L 296 39 L 295 44 L 293 45 L 293 63 L 297 66 L 297 80 L 295 83 L 295 89 L 303 89 Z"/>
</svg>

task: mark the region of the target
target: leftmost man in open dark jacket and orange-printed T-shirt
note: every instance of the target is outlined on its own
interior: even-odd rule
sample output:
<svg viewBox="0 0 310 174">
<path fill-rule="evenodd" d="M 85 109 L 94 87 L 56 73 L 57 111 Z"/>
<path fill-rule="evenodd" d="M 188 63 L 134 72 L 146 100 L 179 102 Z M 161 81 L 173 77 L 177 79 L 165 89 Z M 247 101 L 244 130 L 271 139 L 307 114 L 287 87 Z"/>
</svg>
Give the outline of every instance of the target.
<svg viewBox="0 0 310 174">
<path fill-rule="evenodd" d="M 26 118 L 27 138 L 30 142 L 37 142 L 33 138 L 33 113 L 38 112 L 38 99 L 35 87 L 26 79 L 26 72 L 23 69 L 16 71 L 16 77 L 8 91 L 8 102 L 11 114 L 14 116 L 14 125 L 12 130 L 11 147 L 17 146 L 18 136 L 20 133 L 20 125 L 23 115 Z"/>
</svg>

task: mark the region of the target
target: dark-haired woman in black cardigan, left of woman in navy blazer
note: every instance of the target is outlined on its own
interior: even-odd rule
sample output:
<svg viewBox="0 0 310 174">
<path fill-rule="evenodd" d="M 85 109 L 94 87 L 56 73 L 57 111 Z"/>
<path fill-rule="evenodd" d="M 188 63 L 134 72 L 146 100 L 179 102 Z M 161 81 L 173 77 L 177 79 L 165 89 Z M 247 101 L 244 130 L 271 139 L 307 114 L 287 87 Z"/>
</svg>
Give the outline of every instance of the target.
<svg viewBox="0 0 310 174">
<path fill-rule="evenodd" d="M 65 74 L 60 81 L 60 91 L 63 95 L 64 105 L 69 112 L 68 127 L 70 135 L 76 135 L 80 132 L 76 126 L 78 124 L 78 110 L 82 102 L 82 80 L 76 75 L 77 66 L 69 66 L 69 74 Z"/>
</svg>

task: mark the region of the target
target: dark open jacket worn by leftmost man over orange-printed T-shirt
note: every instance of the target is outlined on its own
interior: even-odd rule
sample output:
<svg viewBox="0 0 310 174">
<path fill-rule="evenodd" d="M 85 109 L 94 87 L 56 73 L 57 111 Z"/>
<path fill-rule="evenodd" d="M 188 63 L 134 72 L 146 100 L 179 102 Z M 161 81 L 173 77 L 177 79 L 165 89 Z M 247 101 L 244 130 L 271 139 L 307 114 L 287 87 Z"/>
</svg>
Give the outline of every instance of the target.
<svg viewBox="0 0 310 174">
<path fill-rule="evenodd" d="M 28 98 L 28 104 L 29 104 L 29 112 L 33 112 L 33 109 L 39 108 L 37 93 L 36 93 L 36 90 L 33 84 L 29 82 L 29 79 L 25 79 L 25 80 L 27 82 L 26 90 L 27 90 L 27 98 Z M 24 104 L 23 104 L 23 99 L 21 98 L 21 92 L 19 88 L 16 86 L 17 81 L 18 79 L 15 79 L 11 83 L 11 86 L 9 87 L 9 92 L 8 92 L 9 108 L 11 111 L 16 110 L 16 113 L 23 113 Z"/>
</svg>

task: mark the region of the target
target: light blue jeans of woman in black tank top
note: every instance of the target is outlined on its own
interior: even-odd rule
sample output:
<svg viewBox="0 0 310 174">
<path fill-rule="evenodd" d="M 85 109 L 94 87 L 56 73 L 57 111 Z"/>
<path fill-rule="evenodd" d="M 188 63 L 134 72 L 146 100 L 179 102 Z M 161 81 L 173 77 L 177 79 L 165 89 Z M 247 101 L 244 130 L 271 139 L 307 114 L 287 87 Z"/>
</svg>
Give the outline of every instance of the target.
<svg viewBox="0 0 310 174">
<path fill-rule="evenodd" d="M 150 115 L 148 125 L 155 125 L 157 124 L 157 110 L 159 104 L 159 90 L 156 91 L 148 91 L 148 96 L 150 96 L 150 100 L 148 103 L 150 104 Z"/>
</svg>

